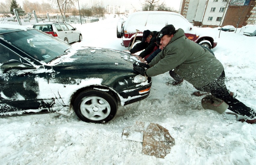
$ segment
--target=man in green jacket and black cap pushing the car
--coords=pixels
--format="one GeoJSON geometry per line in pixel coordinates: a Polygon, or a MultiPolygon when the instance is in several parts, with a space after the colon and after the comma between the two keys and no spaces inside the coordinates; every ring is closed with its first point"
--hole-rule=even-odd
{"type": "Polygon", "coordinates": [[[256,111],[230,95],[225,84],[224,67],[212,53],[189,40],[183,29],[175,30],[173,25],[166,25],[157,37],[161,38],[163,50],[149,64],[136,64],[133,70],[144,76],[173,70],[197,90],[211,93],[211,97],[201,101],[204,109],[222,113],[229,109],[244,116],[245,119],[239,121],[256,123],[256,111]]]}

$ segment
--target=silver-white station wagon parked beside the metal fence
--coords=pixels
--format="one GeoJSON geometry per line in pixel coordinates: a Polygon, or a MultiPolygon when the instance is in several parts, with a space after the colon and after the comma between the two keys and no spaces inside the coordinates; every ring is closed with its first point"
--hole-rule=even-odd
{"type": "Polygon", "coordinates": [[[53,37],[58,37],[68,44],[81,42],[83,39],[81,31],[64,22],[40,22],[34,24],[33,28],[51,34],[53,37]]]}

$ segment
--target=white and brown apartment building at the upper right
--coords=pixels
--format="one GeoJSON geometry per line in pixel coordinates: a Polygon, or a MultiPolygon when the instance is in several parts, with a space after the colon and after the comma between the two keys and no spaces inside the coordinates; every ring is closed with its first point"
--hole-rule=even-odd
{"type": "Polygon", "coordinates": [[[255,23],[256,1],[250,0],[183,0],[179,13],[194,26],[241,28],[255,23]]]}

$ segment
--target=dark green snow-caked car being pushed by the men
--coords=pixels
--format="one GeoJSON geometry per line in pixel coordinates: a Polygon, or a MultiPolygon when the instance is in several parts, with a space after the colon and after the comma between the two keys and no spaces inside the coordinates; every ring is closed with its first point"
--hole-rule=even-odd
{"type": "Polygon", "coordinates": [[[151,77],[133,71],[130,57],[113,49],[73,49],[34,28],[0,24],[0,116],[66,108],[85,122],[108,122],[118,104],[150,93],[151,77]]]}

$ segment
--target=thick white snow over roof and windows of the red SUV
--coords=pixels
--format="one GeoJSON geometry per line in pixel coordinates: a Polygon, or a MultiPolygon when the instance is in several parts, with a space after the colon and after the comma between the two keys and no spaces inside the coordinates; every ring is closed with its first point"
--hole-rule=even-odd
{"type": "Polygon", "coordinates": [[[160,31],[164,26],[172,24],[175,29],[190,30],[192,25],[178,13],[168,11],[138,11],[132,13],[125,22],[125,29],[129,33],[151,30],[160,31]]]}

